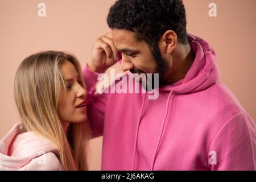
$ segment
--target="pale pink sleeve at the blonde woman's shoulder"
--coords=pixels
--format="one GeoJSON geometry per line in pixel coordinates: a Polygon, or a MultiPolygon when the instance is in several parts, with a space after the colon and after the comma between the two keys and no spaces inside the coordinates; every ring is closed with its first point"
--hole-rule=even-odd
{"type": "Polygon", "coordinates": [[[53,152],[32,159],[24,168],[26,171],[61,171],[59,159],[53,152]]]}

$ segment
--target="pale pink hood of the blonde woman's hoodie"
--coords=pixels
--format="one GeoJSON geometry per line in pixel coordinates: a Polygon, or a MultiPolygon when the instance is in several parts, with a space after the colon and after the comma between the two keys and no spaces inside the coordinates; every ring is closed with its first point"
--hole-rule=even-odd
{"type": "Polygon", "coordinates": [[[51,141],[32,131],[23,133],[22,130],[22,123],[17,123],[0,141],[0,170],[19,169],[48,152],[57,154],[51,141]]]}

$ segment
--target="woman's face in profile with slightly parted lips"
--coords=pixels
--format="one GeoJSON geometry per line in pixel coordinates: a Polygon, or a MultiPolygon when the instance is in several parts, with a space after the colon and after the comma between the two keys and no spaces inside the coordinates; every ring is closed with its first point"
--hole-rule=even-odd
{"type": "Polygon", "coordinates": [[[79,73],[77,73],[75,66],[67,60],[61,64],[60,69],[67,82],[67,90],[62,90],[60,93],[60,117],[68,123],[83,122],[87,118],[86,90],[83,88],[79,73]]]}

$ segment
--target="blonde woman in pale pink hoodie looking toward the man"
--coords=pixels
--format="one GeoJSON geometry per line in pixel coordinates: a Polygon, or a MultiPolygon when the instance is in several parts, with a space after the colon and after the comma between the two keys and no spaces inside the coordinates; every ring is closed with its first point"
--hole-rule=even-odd
{"type": "Polygon", "coordinates": [[[76,57],[55,51],[31,55],[14,82],[22,123],[0,142],[0,170],[87,170],[90,129],[76,57]]]}

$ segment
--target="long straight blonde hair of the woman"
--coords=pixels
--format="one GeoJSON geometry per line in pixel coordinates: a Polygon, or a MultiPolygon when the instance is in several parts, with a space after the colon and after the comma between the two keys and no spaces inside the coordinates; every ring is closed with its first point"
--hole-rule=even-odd
{"type": "Polygon", "coordinates": [[[60,92],[66,89],[60,66],[67,60],[82,78],[79,61],[73,55],[47,51],[28,56],[16,72],[14,97],[24,130],[51,140],[64,170],[88,170],[88,121],[70,123],[66,134],[58,113],[60,92]]]}

